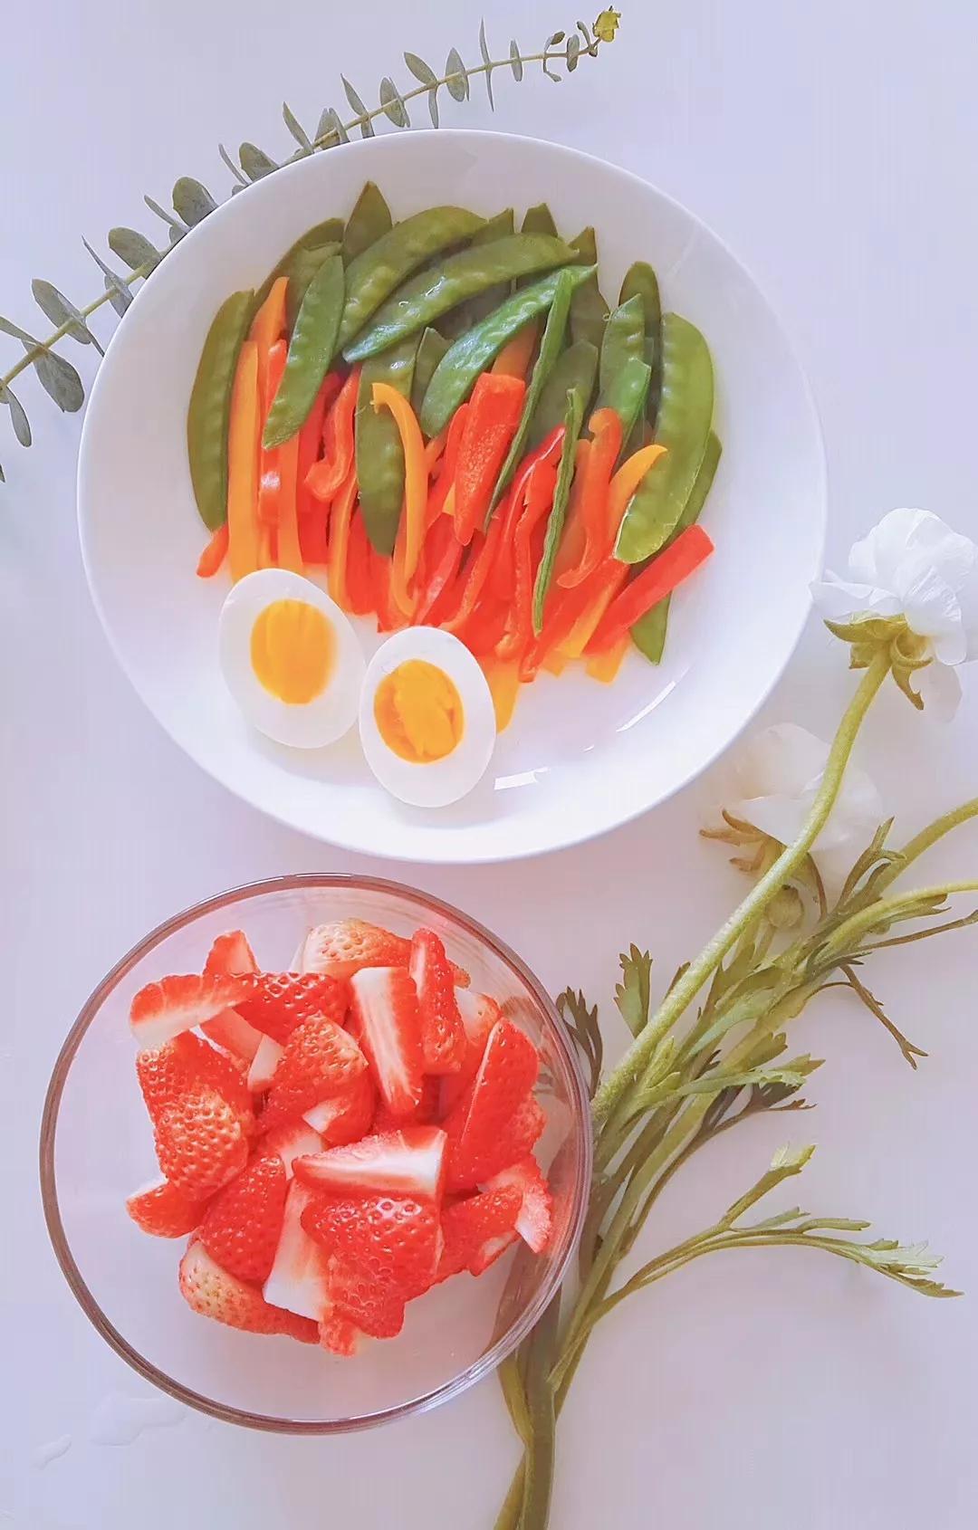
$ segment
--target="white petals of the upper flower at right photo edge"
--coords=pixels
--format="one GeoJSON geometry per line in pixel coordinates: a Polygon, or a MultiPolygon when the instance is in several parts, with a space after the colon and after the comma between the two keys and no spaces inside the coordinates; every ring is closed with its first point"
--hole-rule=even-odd
{"type": "Polygon", "coordinates": [[[849,578],[826,572],[811,586],[831,620],[903,617],[934,664],[917,681],[954,713],[961,685],[952,669],[978,658],[978,546],[929,509],[891,509],[849,552],[849,578]]]}

